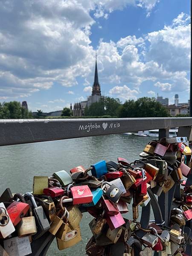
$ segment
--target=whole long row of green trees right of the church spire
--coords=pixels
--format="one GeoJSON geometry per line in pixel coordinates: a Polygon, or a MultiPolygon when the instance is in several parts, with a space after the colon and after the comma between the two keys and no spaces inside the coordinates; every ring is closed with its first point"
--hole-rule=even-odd
{"type": "Polygon", "coordinates": [[[118,117],[169,117],[166,107],[153,98],[143,97],[128,100],[121,104],[119,99],[105,97],[100,102],[85,108],[85,116],[118,116],[118,117]]]}

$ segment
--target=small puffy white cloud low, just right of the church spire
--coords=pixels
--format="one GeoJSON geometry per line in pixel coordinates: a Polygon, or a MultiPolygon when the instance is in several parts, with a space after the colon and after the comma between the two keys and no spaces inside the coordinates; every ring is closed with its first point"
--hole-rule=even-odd
{"type": "Polygon", "coordinates": [[[111,90],[109,90],[110,95],[118,96],[122,99],[137,99],[136,94],[138,94],[137,90],[131,90],[128,86],[115,86],[111,90]]]}

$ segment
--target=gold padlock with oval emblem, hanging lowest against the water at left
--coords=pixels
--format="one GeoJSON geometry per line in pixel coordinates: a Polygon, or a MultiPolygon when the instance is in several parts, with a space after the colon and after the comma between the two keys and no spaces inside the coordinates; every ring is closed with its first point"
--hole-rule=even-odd
{"type": "Polygon", "coordinates": [[[56,237],[59,250],[64,250],[66,248],[72,247],[73,245],[79,243],[81,240],[82,238],[79,226],[76,227],[76,229],[74,230],[71,230],[70,227],[68,227],[64,241],[56,237]]]}

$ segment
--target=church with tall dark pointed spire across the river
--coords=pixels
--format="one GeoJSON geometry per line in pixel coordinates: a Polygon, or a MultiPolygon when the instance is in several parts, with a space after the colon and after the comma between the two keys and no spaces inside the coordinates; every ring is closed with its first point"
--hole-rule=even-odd
{"type": "Polygon", "coordinates": [[[79,103],[75,103],[73,108],[73,116],[84,116],[84,109],[85,107],[90,107],[92,103],[99,102],[101,99],[101,88],[98,79],[98,72],[97,72],[97,59],[95,63],[95,78],[93,83],[92,95],[88,96],[87,101],[82,101],[79,103]]]}

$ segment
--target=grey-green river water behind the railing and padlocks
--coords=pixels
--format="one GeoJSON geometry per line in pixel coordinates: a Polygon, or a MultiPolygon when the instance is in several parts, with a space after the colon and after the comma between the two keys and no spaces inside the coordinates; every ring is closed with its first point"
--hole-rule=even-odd
{"type": "MultiPolygon", "coordinates": [[[[75,166],[90,164],[99,160],[113,160],[124,157],[130,162],[137,159],[149,137],[115,134],[70,140],[59,140],[23,145],[0,147],[0,194],[9,187],[12,193],[32,191],[33,176],[51,176],[54,172],[69,172],[75,166]]],[[[125,218],[132,218],[130,212],[125,218]]],[[[85,255],[85,246],[92,236],[89,222],[93,219],[87,212],[80,223],[82,241],[75,246],[59,251],[54,239],[48,256],[85,255]]]]}

